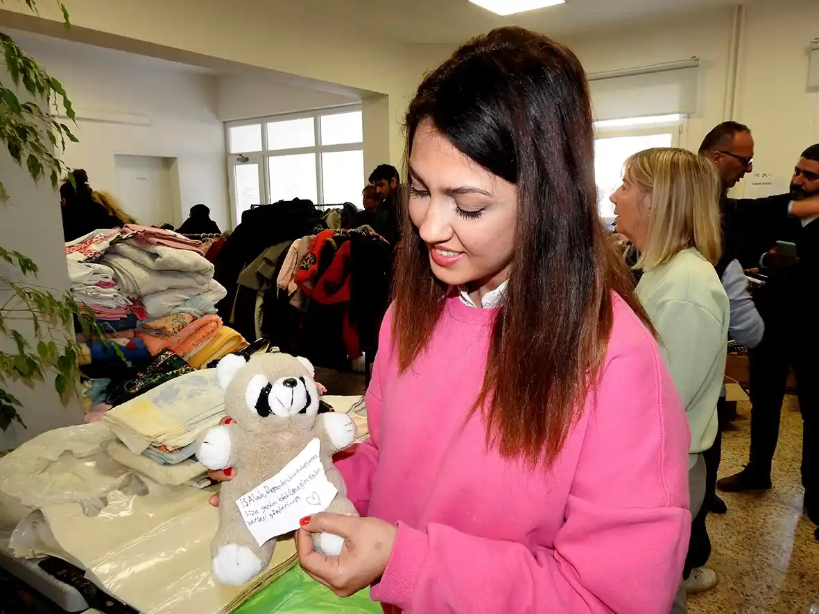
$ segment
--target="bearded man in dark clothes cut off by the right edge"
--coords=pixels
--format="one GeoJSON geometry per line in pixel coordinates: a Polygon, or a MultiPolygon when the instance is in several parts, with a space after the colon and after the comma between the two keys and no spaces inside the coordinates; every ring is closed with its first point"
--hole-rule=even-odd
{"type": "MultiPolygon", "coordinates": [[[[767,201],[771,207],[784,205],[794,210],[812,201],[813,196],[819,196],[819,143],[808,147],[799,158],[790,194],[757,202],[767,201]]],[[[718,488],[726,492],[771,488],[771,461],[792,366],[804,424],[804,508],[810,520],[819,524],[819,329],[812,325],[819,298],[817,217],[789,217],[771,222],[768,228],[758,229],[749,242],[757,253],[764,250],[759,264],[768,276],[755,297],[766,328],[762,343],[750,351],[753,404],[750,460],[742,472],[720,480],[718,488]]]]}

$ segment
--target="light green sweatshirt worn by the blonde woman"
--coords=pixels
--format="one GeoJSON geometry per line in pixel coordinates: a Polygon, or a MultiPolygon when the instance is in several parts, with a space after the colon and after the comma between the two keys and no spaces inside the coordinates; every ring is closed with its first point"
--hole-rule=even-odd
{"type": "Polygon", "coordinates": [[[731,307],[713,266],[694,248],[645,271],[637,296],[660,335],[660,351],[691,429],[688,467],[717,436],[731,307]]]}

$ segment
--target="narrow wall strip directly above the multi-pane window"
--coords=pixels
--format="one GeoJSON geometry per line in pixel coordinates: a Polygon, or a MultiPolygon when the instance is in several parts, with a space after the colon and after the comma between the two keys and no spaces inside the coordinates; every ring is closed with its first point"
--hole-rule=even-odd
{"type": "Polygon", "coordinates": [[[222,121],[247,120],[356,102],[360,97],[278,84],[261,76],[227,75],[218,79],[216,115],[222,121]]]}

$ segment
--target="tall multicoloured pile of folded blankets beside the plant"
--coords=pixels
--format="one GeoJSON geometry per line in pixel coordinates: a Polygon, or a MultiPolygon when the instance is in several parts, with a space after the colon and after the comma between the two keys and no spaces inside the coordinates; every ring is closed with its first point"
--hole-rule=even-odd
{"type": "MultiPolygon", "coordinates": [[[[106,336],[78,336],[84,375],[110,380],[102,398],[88,400],[99,414],[88,420],[191,370],[184,359],[215,340],[223,342],[210,354],[225,345],[214,315],[225,291],[214,281],[214,266],[202,255],[200,242],[126,224],[67,243],[66,258],[72,295],[93,310],[106,336]]],[[[233,349],[229,345],[224,354],[233,349]]]]}

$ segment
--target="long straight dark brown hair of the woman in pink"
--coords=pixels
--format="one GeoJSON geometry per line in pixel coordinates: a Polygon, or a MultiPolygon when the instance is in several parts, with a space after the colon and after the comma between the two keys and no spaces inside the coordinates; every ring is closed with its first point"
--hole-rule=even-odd
{"type": "MultiPolygon", "coordinates": [[[[613,323],[613,293],[650,331],[626,264],[600,223],[586,77],[567,48],[520,28],[473,39],[428,74],[406,117],[407,157],[422,120],[518,187],[517,249],[474,405],[487,443],[549,466],[593,389],[613,323]]],[[[432,336],[447,288],[403,216],[396,279],[398,363],[432,336]]]]}

